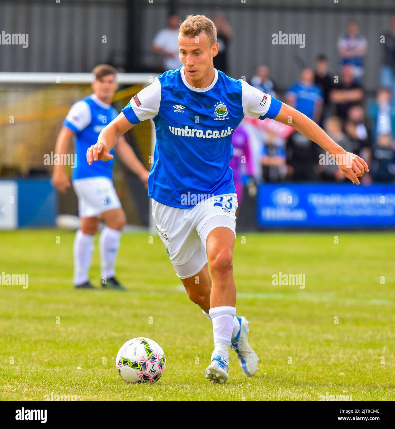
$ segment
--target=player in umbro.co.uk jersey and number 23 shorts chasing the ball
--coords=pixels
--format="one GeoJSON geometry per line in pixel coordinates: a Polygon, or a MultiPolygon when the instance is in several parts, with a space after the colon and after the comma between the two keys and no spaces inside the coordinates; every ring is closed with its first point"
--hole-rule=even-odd
{"type": "MultiPolygon", "coordinates": [[[[228,378],[229,347],[248,376],[256,373],[259,360],[248,344],[248,321],[236,317],[233,246],[238,202],[229,167],[233,131],[244,115],[275,118],[330,154],[346,151],[302,113],[214,69],[218,44],[210,19],[189,15],[181,24],[178,44],[184,66],[163,73],[133,97],[86,157],[93,165],[110,159],[119,136],[153,118],[156,147],[148,194],[154,224],[190,299],[212,320],[214,351],[205,376],[223,383],[228,378]]],[[[350,166],[339,167],[359,184],[367,164],[354,154],[349,159],[350,166]]]]}

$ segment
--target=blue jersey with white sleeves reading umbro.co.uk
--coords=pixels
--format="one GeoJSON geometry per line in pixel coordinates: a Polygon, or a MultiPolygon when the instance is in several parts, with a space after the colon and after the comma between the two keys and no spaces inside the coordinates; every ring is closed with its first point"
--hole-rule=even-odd
{"type": "Polygon", "coordinates": [[[148,195],[190,208],[205,196],[234,193],[232,134],[244,115],[275,118],[281,102],[214,69],[207,88],[195,88],[184,67],[169,70],[122,109],[132,124],[153,119],[156,145],[148,195]]]}

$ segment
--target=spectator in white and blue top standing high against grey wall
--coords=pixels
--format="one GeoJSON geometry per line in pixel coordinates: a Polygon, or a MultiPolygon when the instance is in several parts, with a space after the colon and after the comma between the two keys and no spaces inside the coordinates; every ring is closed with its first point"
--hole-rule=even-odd
{"type": "Polygon", "coordinates": [[[341,66],[350,65],[353,76],[358,81],[364,74],[364,56],[367,51],[367,41],[359,33],[359,26],[355,21],[349,21],[346,33],[337,41],[337,51],[341,66]]]}

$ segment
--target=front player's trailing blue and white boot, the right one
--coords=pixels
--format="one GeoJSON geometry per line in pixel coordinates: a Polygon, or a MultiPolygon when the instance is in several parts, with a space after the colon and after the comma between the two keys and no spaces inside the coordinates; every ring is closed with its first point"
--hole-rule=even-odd
{"type": "Polygon", "coordinates": [[[239,320],[240,330],[236,337],[232,338],[230,348],[236,351],[239,364],[245,375],[252,377],[258,370],[259,357],[248,344],[248,333],[250,332],[248,325],[250,322],[245,317],[236,317],[236,319],[239,320]]]}

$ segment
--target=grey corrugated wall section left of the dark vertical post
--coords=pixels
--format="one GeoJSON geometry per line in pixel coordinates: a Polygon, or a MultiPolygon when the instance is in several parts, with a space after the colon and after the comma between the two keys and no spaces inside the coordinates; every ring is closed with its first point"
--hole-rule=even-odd
{"type": "Polygon", "coordinates": [[[28,48],[0,45],[1,71],[89,72],[124,51],[125,0],[55,1],[0,3],[0,33],[29,33],[28,48]]]}

